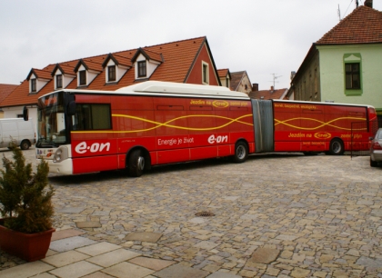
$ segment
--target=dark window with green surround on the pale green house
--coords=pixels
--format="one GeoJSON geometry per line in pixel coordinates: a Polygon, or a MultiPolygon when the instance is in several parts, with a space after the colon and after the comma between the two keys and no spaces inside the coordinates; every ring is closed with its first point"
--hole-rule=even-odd
{"type": "Polygon", "coordinates": [[[362,56],[359,53],[346,54],[344,61],[344,90],[345,94],[362,94],[362,56]]]}

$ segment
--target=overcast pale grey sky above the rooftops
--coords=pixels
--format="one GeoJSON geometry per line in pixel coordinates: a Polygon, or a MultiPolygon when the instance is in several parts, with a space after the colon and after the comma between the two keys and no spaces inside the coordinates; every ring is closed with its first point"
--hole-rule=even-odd
{"type": "MultiPolygon", "coordinates": [[[[359,5],[364,0],[359,0],[359,5]]],[[[0,83],[31,68],[205,36],[217,69],[287,88],[310,46],[356,0],[2,0],[0,83]]],[[[382,11],[382,0],[374,0],[382,11]]]]}

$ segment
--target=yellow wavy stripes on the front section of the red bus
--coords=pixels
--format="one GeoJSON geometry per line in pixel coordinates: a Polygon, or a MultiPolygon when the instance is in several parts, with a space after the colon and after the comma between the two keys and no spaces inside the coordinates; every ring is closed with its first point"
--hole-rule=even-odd
{"type": "Polygon", "coordinates": [[[150,123],[150,124],[156,124],[156,125],[153,126],[153,127],[150,127],[150,128],[136,129],[136,130],[122,130],[122,131],[109,131],[109,130],[107,130],[107,131],[106,130],[105,131],[103,131],[103,130],[93,131],[93,130],[84,130],[84,131],[72,131],[72,133],[75,133],[75,134],[95,134],[95,133],[96,134],[122,134],[122,133],[130,134],[130,133],[140,133],[140,132],[150,131],[150,130],[159,128],[161,126],[172,127],[172,128],[176,128],[176,129],[183,129],[183,130],[192,130],[192,131],[207,131],[207,130],[220,129],[220,128],[226,127],[229,124],[233,124],[233,123],[240,123],[240,124],[246,124],[246,125],[253,126],[253,124],[249,124],[249,123],[240,121],[243,118],[252,117],[252,114],[245,114],[245,115],[237,117],[236,119],[232,119],[232,118],[228,118],[228,117],[224,117],[224,116],[219,116],[219,115],[211,115],[211,114],[191,114],[191,115],[185,115],[185,116],[181,116],[181,117],[177,117],[177,118],[171,119],[170,121],[167,121],[166,123],[158,123],[156,121],[151,121],[151,120],[148,120],[148,119],[145,119],[145,118],[136,117],[136,116],[128,115],[128,114],[113,114],[113,116],[114,117],[129,118],[129,119],[138,120],[138,121],[142,121],[142,122],[146,122],[146,123],[150,123]],[[205,128],[177,126],[177,125],[174,125],[174,124],[170,124],[172,122],[175,122],[176,120],[185,119],[185,118],[191,118],[191,117],[220,118],[220,119],[225,119],[228,122],[226,124],[221,124],[219,126],[211,126],[211,127],[205,127],[205,128]]]}

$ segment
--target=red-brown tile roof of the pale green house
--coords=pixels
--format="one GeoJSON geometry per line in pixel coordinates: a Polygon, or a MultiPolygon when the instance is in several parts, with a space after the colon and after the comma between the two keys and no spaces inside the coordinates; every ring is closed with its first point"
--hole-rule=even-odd
{"type": "Polygon", "coordinates": [[[361,5],[317,41],[317,45],[382,43],[382,12],[361,5]]]}

